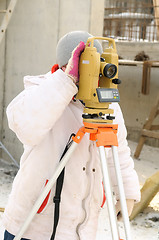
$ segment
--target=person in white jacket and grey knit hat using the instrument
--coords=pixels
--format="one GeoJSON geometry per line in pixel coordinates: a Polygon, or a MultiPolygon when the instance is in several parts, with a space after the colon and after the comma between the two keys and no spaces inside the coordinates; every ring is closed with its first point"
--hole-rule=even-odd
{"type": "MultiPolygon", "coordinates": [[[[87,32],[75,31],[62,37],[56,49],[58,67],[56,65],[45,75],[24,77],[24,91],[7,108],[9,127],[23,143],[24,153],[3,215],[6,229],[4,240],[13,239],[18,233],[36,199],[53,176],[70,135],[77,133],[83,125],[84,106],[73,97],[78,92],[79,57],[90,36],[87,32]]],[[[98,41],[95,47],[102,52],[98,41]]],[[[130,215],[134,202],[140,200],[140,187],[130,157],[121,109],[118,103],[111,104],[110,108],[114,109],[114,123],[118,124],[118,154],[130,215]]],[[[107,156],[118,212],[119,194],[109,149],[107,156]]],[[[23,239],[51,238],[55,188],[53,186],[42,203],[23,239]]],[[[103,197],[98,149],[85,134],[65,167],[55,239],[96,239],[103,197]]]]}

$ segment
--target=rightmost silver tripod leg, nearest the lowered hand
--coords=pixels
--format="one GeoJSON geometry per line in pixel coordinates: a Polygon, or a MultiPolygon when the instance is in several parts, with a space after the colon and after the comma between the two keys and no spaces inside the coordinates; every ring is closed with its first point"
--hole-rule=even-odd
{"type": "Polygon", "coordinates": [[[129,216],[128,216],[128,211],[127,211],[123,180],[122,180],[122,175],[121,175],[121,170],[120,170],[118,150],[117,150],[116,146],[112,146],[112,153],[113,153],[116,177],[117,177],[118,188],[119,188],[119,197],[120,197],[122,217],[123,217],[124,228],[125,228],[124,229],[125,235],[126,235],[127,240],[131,240],[130,222],[129,222],[129,216]]]}

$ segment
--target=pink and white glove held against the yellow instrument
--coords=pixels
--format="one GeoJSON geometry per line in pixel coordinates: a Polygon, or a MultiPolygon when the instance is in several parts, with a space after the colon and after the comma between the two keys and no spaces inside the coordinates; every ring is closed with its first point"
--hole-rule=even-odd
{"type": "Polygon", "coordinates": [[[68,61],[65,73],[73,79],[74,83],[78,83],[79,81],[79,72],[78,72],[78,67],[79,67],[79,59],[81,53],[84,51],[85,48],[85,43],[80,42],[78,46],[73,50],[72,56],[70,60],[68,61]]]}

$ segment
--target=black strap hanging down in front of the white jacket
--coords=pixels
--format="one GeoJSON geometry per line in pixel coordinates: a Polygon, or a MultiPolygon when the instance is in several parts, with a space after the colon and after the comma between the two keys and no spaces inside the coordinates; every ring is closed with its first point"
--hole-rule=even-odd
{"type": "MultiPolygon", "coordinates": [[[[64,157],[64,155],[66,154],[67,150],[69,149],[72,141],[71,138],[72,136],[75,136],[75,134],[71,134],[69,141],[64,149],[64,152],[60,158],[61,159],[64,157]]],[[[65,174],[65,168],[62,170],[62,172],[60,173],[59,177],[57,178],[56,181],[56,191],[55,191],[55,196],[53,198],[53,202],[55,203],[55,208],[54,208],[54,227],[53,227],[53,233],[52,236],[50,238],[50,240],[54,240],[55,239],[55,234],[56,234],[56,228],[58,225],[58,221],[59,221],[59,213],[60,213],[60,201],[61,201],[61,192],[62,192],[62,187],[63,187],[63,181],[64,181],[64,174],[65,174]]]]}

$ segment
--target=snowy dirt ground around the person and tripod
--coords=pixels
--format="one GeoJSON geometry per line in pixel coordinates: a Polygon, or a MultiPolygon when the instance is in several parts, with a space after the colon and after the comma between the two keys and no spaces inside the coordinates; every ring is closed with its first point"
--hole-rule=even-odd
{"type": "MultiPolygon", "coordinates": [[[[132,156],[137,143],[129,141],[132,156]]],[[[145,180],[159,170],[159,148],[144,145],[139,159],[134,159],[141,187],[145,180]]],[[[17,168],[0,160],[0,208],[5,208],[17,168]]],[[[3,212],[0,212],[0,239],[3,239],[4,228],[1,223],[3,212]]],[[[101,209],[96,240],[110,240],[110,227],[107,208],[101,209]]],[[[133,240],[159,240],[159,193],[148,208],[130,223],[133,240]]],[[[121,238],[124,237],[123,225],[119,223],[121,238]]]]}

